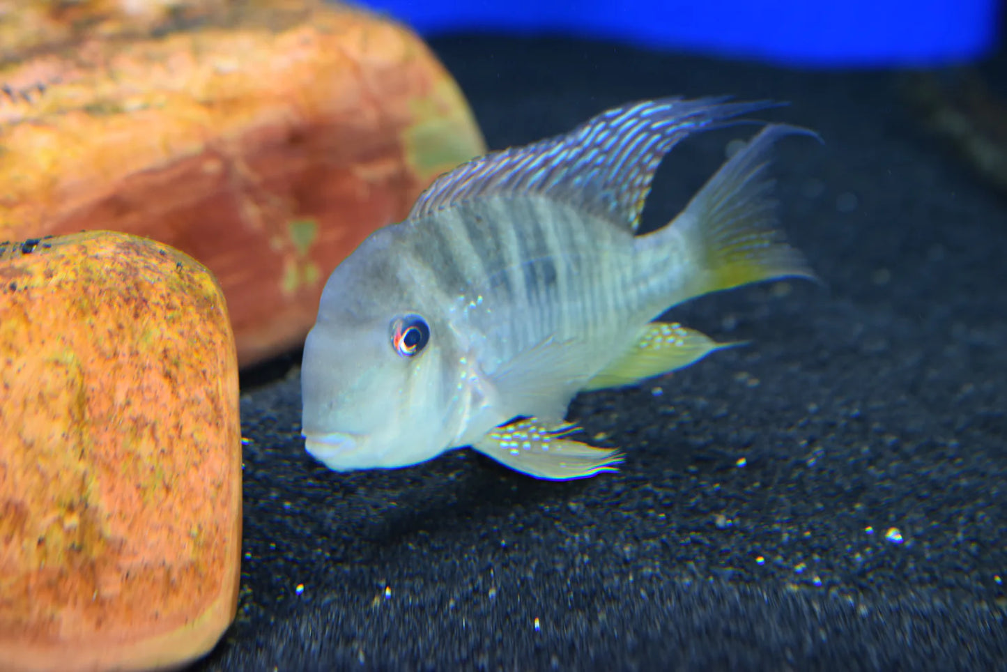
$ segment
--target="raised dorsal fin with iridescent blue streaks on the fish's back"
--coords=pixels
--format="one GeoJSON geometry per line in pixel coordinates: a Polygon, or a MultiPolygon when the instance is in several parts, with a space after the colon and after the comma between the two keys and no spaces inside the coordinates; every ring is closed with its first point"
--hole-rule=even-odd
{"type": "Polygon", "coordinates": [[[438,177],[409,217],[422,218],[479,197],[540,194],[635,231],[654,172],[679,141],[727,125],[732,117],[777,105],[725,100],[666,98],[624,105],[569,133],[490,152],[438,177]]]}

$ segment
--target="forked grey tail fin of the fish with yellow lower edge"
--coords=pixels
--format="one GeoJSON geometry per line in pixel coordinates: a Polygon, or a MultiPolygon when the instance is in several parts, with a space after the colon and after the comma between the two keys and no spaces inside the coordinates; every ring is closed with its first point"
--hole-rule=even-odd
{"type": "Polygon", "coordinates": [[[680,285],[686,293],[680,301],[773,278],[818,280],[804,255],[786,244],[771,196],[775,180],[764,174],[772,143],[790,134],[819,137],[797,126],[766,126],[720,167],[668,227],[654,234],[685,246],[690,271],[686,285],[680,285]]]}

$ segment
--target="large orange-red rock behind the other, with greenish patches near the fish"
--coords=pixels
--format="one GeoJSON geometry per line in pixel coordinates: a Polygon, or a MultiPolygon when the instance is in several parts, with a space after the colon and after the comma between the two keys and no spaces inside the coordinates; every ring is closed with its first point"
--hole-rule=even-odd
{"type": "Polygon", "coordinates": [[[0,240],[111,229],[186,252],[224,288],[245,366],[299,346],[332,269],[485,148],[402,26],[314,0],[204,12],[0,65],[0,240]]]}

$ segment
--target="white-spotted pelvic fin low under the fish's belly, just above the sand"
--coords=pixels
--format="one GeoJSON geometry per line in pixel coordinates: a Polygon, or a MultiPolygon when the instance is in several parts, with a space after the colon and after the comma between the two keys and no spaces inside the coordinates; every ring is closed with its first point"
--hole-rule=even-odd
{"type": "Polygon", "coordinates": [[[567,436],[579,427],[560,424],[550,428],[535,418],[497,427],[472,448],[505,466],[536,479],[569,481],[615,472],[623,460],[615,448],[596,448],[567,436]]]}

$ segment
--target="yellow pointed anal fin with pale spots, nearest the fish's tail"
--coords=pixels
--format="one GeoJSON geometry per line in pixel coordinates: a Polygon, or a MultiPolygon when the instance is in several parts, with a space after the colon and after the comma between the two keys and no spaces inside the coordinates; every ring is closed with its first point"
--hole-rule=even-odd
{"type": "Polygon", "coordinates": [[[653,322],[627,353],[595,375],[584,389],[632,385],[688,367],[714,351],[740,345],[743,342],[717,343],[702,331],[677,322],[653,322]]]}

